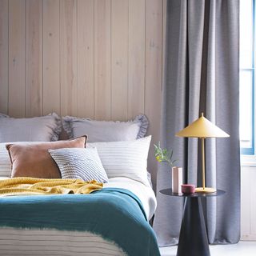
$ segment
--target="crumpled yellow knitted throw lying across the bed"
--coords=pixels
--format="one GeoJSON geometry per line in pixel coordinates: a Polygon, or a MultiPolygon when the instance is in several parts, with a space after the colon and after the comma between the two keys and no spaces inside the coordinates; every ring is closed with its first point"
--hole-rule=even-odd
{"type": "Polygon", "coordinates": [[[103,184],[81,179],[18,177],[0,181],[0,196],[24,194],[90,194],[103,184]]]}

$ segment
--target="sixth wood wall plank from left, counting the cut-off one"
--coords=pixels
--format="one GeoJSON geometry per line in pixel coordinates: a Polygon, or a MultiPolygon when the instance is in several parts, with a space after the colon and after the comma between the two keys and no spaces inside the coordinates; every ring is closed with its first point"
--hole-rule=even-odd
{"type": "Polygon", "coordinates": [[[94,0],[78,0],[78,117],[94,118],[94,0]]]}

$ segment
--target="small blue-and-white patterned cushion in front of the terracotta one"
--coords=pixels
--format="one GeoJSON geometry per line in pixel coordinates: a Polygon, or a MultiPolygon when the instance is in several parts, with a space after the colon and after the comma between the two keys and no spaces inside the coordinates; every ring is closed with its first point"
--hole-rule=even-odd
{"type": "Polygon", "coordinates": [[[108,182],[96,148],[63,148],[48,150],[57,163],[62,178],[80,178],[86,182],[108,182]]]}

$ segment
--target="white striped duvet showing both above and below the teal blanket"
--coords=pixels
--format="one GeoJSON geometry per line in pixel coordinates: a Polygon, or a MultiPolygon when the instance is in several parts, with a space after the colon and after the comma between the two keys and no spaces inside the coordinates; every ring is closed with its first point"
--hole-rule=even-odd
{"type": "MultiPolygon", "coordinates": [[[[130,178],[110,178],[104,187],[130,190],[141,200],[146,217],[156,209],[156,198],[147,186],[130,178]]],[[[50,229],[0,228],[0,255],[125,255],[114,242],[96,234],[50,229]]]]}

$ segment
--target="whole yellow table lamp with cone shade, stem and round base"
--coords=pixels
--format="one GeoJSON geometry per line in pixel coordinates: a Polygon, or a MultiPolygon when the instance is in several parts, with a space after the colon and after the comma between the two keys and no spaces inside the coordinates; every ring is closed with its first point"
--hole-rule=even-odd
{"type": "Polygon", "coordinates": [[[180,130],[178,137],[201,138],[202,141],[202,187],[195,189],[196,193],[214,193],[216,190],[212,187],[206,187],[206,162],[205,162],[205,138],[224,138],[230,137],[225,131],[218,128],[201,114],[201,117],[180,130]]]}

